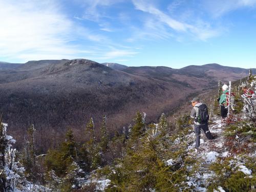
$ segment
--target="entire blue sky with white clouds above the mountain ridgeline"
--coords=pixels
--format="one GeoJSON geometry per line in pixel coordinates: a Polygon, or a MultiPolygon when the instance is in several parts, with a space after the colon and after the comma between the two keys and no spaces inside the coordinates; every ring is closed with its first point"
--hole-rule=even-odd
{"type": "Polygon", "coordinates": [[[0,0],[0,61],[256,68],[256,0],[0,0]]]}

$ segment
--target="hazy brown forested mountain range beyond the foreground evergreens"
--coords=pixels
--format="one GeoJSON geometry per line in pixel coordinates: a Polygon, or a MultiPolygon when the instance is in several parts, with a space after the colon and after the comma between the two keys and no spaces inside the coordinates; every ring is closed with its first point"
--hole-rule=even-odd
{"type": "Polygon", "coordinates": [[[49,134],[61,134],[67,127],[77,130],[79,137],[90,117],[97,136],[103,114],[112,134],[131,123],[127,119],[133,119],[136,111],[155,122],[187,97],[216,87],[219,79],[227,82],[248,74],[247,69],[217,64],[182,69],[126,66],[122,70],[113,69],[116,64],[39,60],[0,70],[0,113],[13,135],[18,135],[17,143],[23,142],[24,129],[31,123],[40,132],[37,139],[46,141],[49,134]]]}

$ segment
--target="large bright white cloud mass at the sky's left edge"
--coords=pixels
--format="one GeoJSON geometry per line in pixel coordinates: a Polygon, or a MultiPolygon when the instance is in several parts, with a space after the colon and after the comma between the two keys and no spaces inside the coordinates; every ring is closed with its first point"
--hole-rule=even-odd
{"type": "Polygon", "coordinates": [[[0,55],[20,61],[45,58],[75,58],[91,51],[76,40],[104,42],[102,35],[76,25],[55,1],[0,0],[0,55]]]}

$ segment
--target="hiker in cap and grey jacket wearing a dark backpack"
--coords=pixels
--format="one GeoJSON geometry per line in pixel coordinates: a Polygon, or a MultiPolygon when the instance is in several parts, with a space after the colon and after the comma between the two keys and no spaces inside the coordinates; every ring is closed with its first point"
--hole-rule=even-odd
{"type": "MultiPolygon", "coordinates": [[[[193,106],[193,109],[190,112],[190,117],[194,119],[194,129],[196,133],[196,148],[200,146],[200,133],[201,129],[203,130],[204,134],[206,135],[207,139],[211,140],[213,139],[209,129],[208,129],[208,111],[207,111],[207,106],[203,103],[200,102],[200,99],[198,97],[194,98],[191,100],[191,104],[193,106]],[[207,120],[206,121],[201,121],[200,115],[199,115],[199,106],[202,105],[201,107],[206,108],[207,112],[207,120]]],[[[201,108],[200,108],[201,109],[201,108]]]]}

